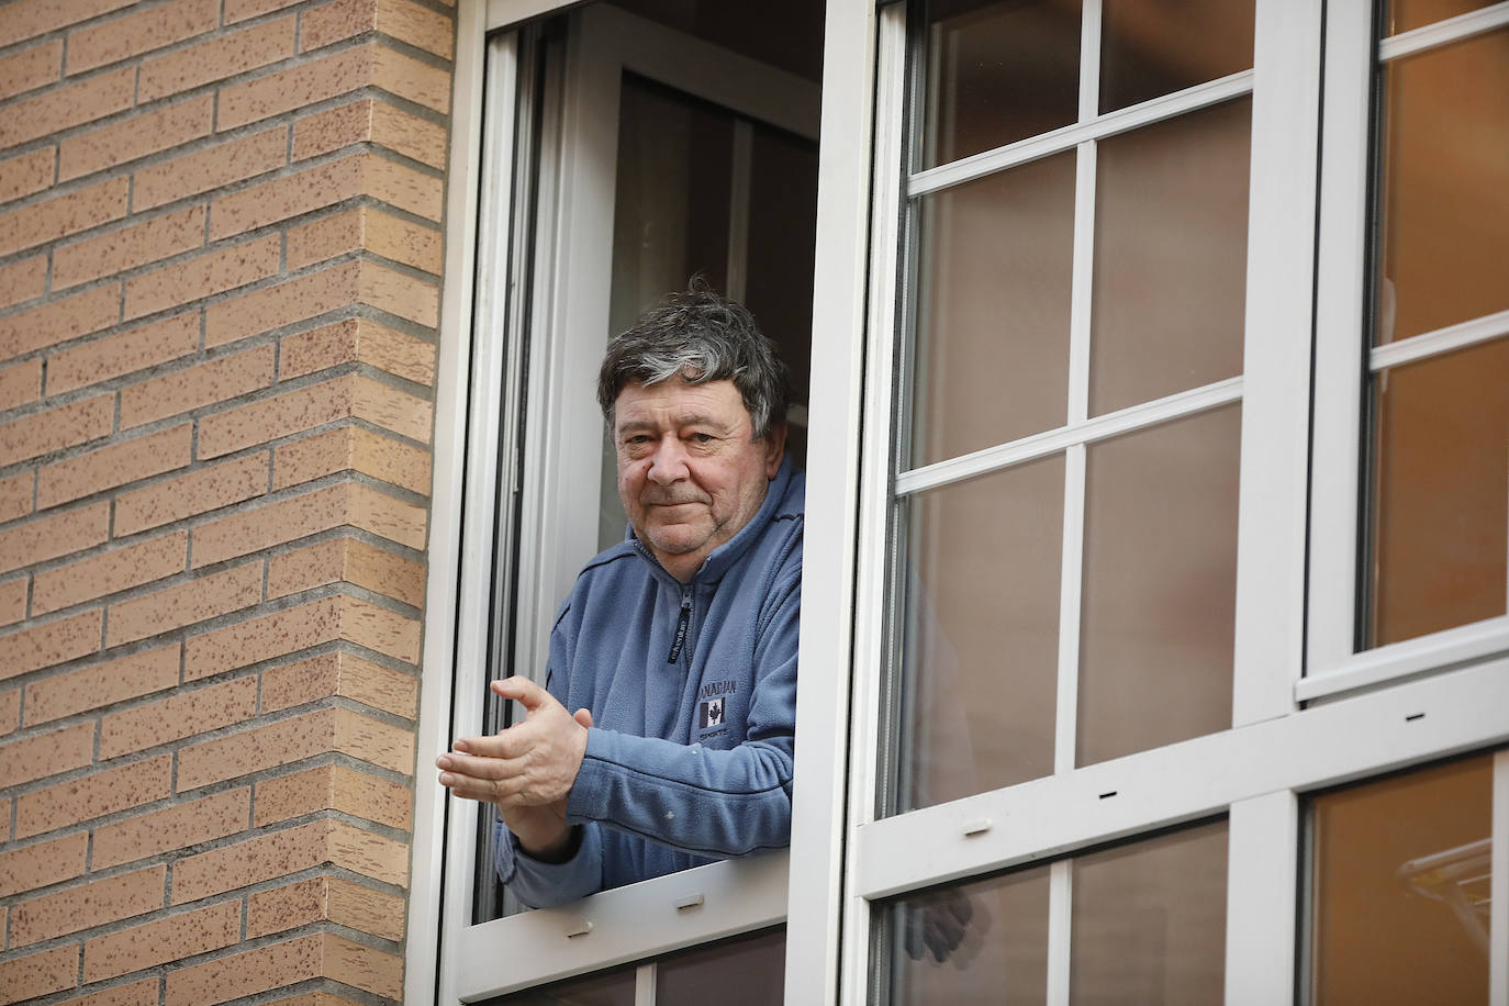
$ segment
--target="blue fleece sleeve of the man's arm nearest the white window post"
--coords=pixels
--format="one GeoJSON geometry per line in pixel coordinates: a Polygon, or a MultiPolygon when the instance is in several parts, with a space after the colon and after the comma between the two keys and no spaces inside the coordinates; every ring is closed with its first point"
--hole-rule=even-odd
{"type": "Polygon", "coordinates": [[[567,820],[601,822],[696,855],[791,843],[801,572],[770,602],[754,644],[748,733],[732,750],[593,728],[567,820]]]}

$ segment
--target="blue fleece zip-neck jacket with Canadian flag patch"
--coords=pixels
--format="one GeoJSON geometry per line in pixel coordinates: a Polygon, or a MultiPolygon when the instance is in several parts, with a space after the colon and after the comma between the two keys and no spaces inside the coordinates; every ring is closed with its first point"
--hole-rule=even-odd
{"type": "Polygon", "coordinates": [[[598,555],[551,633],[546,688],[590,709],[566,863],[499,822],[498,876],[527,905],[791,842],[806,478],[782,463],[754,517],[690,584],[628,537],[598,555]]]}

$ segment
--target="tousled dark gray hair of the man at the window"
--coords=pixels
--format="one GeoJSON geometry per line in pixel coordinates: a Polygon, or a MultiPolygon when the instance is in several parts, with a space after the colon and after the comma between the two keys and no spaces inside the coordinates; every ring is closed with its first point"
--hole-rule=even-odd
{"type": "Polygon", "coordinates": [[[786,421],[791,382],[776,344],[754,315],[715,294],[694,276],[684,294],[665,294],[632,329],[608,342],[598,371],[598,406],[613,425],[613,406],[625,385],[658,385],[681,377],[688,385],[732,380],[754,427],[754,439],[786,421]]]}

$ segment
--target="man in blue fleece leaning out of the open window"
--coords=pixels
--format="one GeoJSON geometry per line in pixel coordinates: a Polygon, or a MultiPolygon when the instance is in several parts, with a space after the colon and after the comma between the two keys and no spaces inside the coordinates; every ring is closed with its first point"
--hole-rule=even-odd
{"type": "Polygon", "coordinates": [[[629,532],[561,606],[546,688],[493,682],[525,721],[436,762],[498,807],[498,876],[534,906],[791,836],[804,483],[785,368],[694,282],[613,339],[598,403],[629,532]]]}

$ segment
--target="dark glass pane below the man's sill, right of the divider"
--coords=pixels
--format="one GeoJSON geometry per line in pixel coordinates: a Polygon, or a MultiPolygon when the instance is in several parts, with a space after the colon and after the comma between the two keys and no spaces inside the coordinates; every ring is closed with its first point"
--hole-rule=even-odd
{"type": "Polygon", "coordinates": [[[779,1006],[786,931],[702,947],[656,964],[655,1006],[779,1006]]]}

